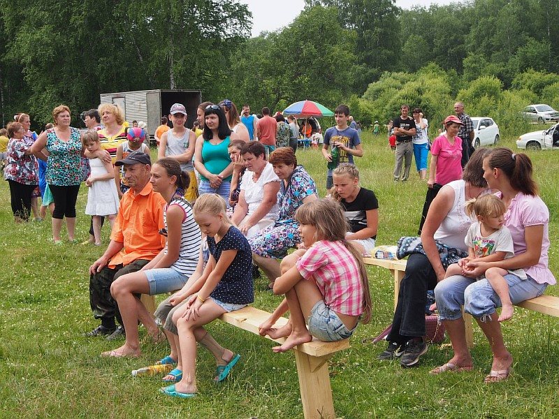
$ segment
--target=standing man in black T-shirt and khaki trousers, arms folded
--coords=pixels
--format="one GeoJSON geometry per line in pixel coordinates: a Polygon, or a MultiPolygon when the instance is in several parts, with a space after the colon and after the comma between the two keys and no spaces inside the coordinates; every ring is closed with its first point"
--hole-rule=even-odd
{"type": "Polygon", "coordinates": [[[400,116],[393,119],[394,134],[396,135],[396,152],[394,166],[394,180],[407,180],[409,177],[409,168],[412,166],[412,155],[414,145],[412,139],[416,133],[415,122],[412,117],[407,114],[409,112],[408,105],[400,107],[400,116]],[[404,172],[402,173],[402,161],[404,163],[404,172]]]}

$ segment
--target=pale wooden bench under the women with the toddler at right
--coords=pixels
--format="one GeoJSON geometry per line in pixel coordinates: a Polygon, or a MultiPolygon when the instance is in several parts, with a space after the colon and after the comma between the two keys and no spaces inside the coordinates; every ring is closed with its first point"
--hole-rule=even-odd
{"type": "MultiPolygon", "coordinates": [[[[406,270],[406,260],[387,260],[387,259],[375,259],[375,258],[363,258],[365,265],[373,265],[384,267],[390,272],[392,272],[394,277],[394,309],[396,304],[398,304],[398,291],[400,291],[400,283],[404,278],[406,270]]],[[[549,316],[559,317],[559,297],[553,295],[541,295],[540,297],[532,298],[532,300],[525,300],[521,303],[516,304],[518,307],[523,307],[524,309],[537,311],[538,313],[548,314],[549,316]]],[[[472,348],[474,346],[474,331],[472,328],[472,321],[468,318],[472,318],[470,314],[464,313],[464,323],[466,327],[466,341],[467,346],[472,348]]]]}

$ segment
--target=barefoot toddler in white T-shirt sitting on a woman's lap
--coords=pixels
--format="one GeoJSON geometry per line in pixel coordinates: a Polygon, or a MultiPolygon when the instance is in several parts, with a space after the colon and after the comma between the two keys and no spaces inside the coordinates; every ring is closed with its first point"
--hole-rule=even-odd
{"type": "MultiPolygon", "coordinates": [[[[460,259],[458,263],[450,265],[444,278],[461,275],[472,270],[468,266],[470,260],[480,262],[495,262],[514,256],[514,247],[510,230],[503,226],[504,213],[507,212],[502,200],[495,195],[483,195],[466,203],[465,212],[469,216],[477,216],[477,223],[473,223],[465,237],[468,247],[468,257],[460,259]]],[[[490,267],[485,272],[485,278],[501,300],[502,311],[498,321],[509,320],[513,308],[509,296],[509,286],[503,278],[506,274],[514,274],[526,279],[524,270],[505,270],[500,267],[490,267]]],[[[483,279],[483,277],[478,278],[483,279]]]]}

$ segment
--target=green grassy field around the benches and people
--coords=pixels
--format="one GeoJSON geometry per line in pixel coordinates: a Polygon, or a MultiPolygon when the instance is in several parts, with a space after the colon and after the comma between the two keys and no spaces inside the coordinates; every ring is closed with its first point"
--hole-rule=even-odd
{"type": "MultiPolygon", "coordinates": [[[[393,154],[384,135],[363,135],[365,156],[357,159],[363,186],[379,199],[379,244],[395,244],[414,235],[426,184],[415,175],[394,183],[393,154]]],[[[513,138],[502,145],[514,146],[513,138]]],[[[300,163],[313,175],[324,196],[326,164],[319,152],[302,150],[300,163]]],[[[530,153],[542,198],[549,206],[551,269],[559,277],[559,154],[530,153]]],[[[78,237],[87,237],[83,215],[86,188],[78,201],[78,237]]],[[[181,401],[159,395],[159,377],[132,378],[131,370],[167,354],[166,344],[143,345],[134,360],[105,359],[101,351],[115,343],[87,339],[94,328],[89,309],[87,268],[103,248],[49,242],[50,221],[15,225],[7,182],[0,182],[0,418],[301,418],[298,378],[292,353],[276,355],[272,343],[225,325],[210,325],[216,339],[242,355],[231,377],[212,383],[210,355],[198,355],[196,399],[181,401]]],[[[104,244],[108,231],[104,231],[104,244]]],[[[370,269],[373,316],[351,338],[351,348],[331,360],[334,405],[340,418],[557,418],[559,415],[559,321],[516,309],[504,325],[514,355],[514,374],[484,385],[491,353],[474,327],[474,371],[431,376],[428,371],[451,357],[448,345],[432,346],[421,365],[402,369],[398,362],[379,362],[384,342],[362,344],[391,322],[393,282],[389,272],[370,269]]],[[[254,305],[271,310],[277,297],[256,282],[254,305]]],[[[547,293],[559,295],[557,288],[547,293]]],[[[161,300],[161,297],[159,297],[161,300]]],[[[141,333],[144,335],[145,330],[141,333]]]]}

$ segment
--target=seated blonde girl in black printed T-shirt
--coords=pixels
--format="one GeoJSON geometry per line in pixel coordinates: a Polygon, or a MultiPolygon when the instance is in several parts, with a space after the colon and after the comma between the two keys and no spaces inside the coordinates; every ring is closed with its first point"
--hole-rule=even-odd
{"type": "Polygon", "coordinates": [[[379,201],[375,192],[359,186],[359,171],[352,164],[340,164],[332,175],[332,196],[340,201],[349,223],[345,238],[351,240],[363,256],[370,256],[379,225],[379,201]]]}

